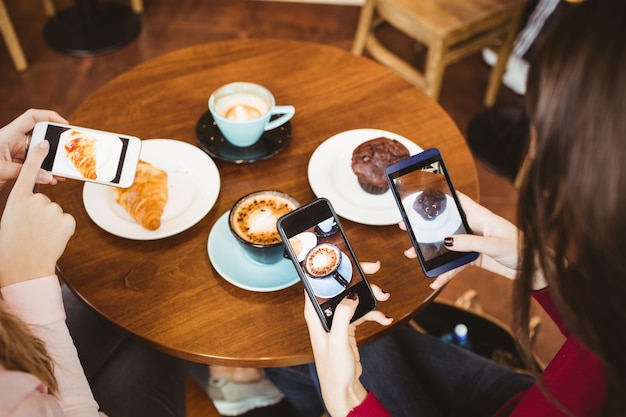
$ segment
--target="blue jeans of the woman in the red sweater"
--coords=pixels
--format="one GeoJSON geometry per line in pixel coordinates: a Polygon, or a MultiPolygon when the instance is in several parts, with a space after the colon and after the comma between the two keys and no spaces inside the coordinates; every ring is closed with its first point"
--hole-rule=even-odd
{"type": "MultiPolygon", "coordinates": [[[[359,350],[361,382],[394,417],[491,416],[533,384],[527,375],[408,326],[359,350]]],[[[302,417],[324,412],[313,364],[266,373],[302,417]]]]}

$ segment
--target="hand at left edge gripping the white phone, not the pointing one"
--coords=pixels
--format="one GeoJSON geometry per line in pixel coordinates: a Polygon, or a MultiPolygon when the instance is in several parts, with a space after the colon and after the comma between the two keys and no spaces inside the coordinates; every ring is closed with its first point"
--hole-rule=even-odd
{"type": "MultiPolygon", "coordinates": [[[[0,189],[17,178],[26,159],[26,138],[35,123],[50,121],[67,124],[67,120],[50,110],[30,109],[0,129],[0,189]]],[[[43,169],[39,170],[37,184],[56,184],[55,178],[43,169]]]]}

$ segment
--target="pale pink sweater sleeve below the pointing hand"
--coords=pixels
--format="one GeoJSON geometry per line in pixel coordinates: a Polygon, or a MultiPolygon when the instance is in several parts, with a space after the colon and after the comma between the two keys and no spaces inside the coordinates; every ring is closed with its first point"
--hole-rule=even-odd
{"type": "Polygon", "coordinates": [[[59,384],[65,416],[98,417],[98,404],[85,377],[67,325],[59,280],[42,277],[1,289],[10,313],[20,318],[46,345],[59,384]]]}

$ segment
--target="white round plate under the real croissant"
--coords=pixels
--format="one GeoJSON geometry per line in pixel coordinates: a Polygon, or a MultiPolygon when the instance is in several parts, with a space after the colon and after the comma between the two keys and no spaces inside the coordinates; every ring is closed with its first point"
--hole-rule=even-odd
{"type": "Polygon", "coordinates": [[[115,201],[113,187],[86,182],[87,214],[107,232],[127,239],[153,240],[187,230],[207,215],[220,192],[215,162],[199,148],[171,139],[142,141],[140,159],[167,171],[168,200],[157,230],[143,228],[115,201]]]}

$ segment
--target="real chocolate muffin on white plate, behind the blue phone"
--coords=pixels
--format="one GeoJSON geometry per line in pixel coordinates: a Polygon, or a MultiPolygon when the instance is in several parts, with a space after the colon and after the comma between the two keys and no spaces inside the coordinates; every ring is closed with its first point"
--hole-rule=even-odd
{"type": "Polygon", "coordinates": [[[380,137],[363,142],[352,152],[352,171],[359,185],[370,194],[382,194],[389,189],[387,165],[410,156],[409,150],[395,139],[380,137]]]}

